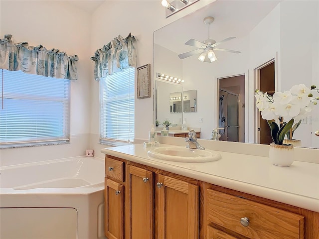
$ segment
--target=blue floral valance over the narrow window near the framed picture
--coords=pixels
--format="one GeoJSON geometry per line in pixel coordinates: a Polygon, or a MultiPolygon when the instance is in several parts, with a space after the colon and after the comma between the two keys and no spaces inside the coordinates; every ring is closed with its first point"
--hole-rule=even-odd
{"type": "Polygon", "coordinates": [[[131,33],[123,38],[121,35],[111,40],[107,45],[97,49],[91,60],[94,61],[94,78],[96,81],[122,72],[124,68],[136,67],[137,41],[131,33]]]}

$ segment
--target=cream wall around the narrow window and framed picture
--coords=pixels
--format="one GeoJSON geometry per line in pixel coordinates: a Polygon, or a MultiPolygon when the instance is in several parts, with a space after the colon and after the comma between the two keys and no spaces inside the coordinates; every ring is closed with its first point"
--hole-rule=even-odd
{"type": "MultiPolygon", "coordinates": [[[[160,27],[212,2],[201,0],[180,12],[165,18],[165,9],[158,0],[108,0],[92,15],[91,52],[101,48],[119,34],[126,37],[130,32],[137,41],[137,67],[151,64],[151,98],[135,99],[135,143],[148,139],[150,124],[153,124],[153,33],[160,27]]],[[[93,62],[92,62],[93,64],[93,62]]],[[[99,95],[98,83],[92,83],[91,96],[91,148],[100,157],[99,138],[99,95]]]]}

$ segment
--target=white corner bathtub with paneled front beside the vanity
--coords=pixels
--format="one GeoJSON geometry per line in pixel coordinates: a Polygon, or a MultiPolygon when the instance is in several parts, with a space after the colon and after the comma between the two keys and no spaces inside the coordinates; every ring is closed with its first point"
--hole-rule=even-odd
{"type": "Polygon", "coordinates": [[[1,239],[104,239],[104,160],[0,167],[1,239]]]}

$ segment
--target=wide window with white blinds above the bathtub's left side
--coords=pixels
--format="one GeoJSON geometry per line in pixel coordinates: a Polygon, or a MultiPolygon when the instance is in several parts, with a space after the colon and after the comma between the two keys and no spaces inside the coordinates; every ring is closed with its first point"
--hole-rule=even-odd
{"type": "Polygon", "coordinates": [[[0,146],[69,140],[70,80],[0,70],[0,146]]]}

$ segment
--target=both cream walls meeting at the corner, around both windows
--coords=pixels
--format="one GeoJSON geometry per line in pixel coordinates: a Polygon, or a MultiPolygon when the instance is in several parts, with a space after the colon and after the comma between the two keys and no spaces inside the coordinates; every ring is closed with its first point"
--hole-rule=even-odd
{"type": "MultiPolygon", "coordinates": [[[[12,34],[17,42],[42,44],[79,56],[79,79],[71,82],[70,143],[0,149],[0,165],[74,157],[84,155],[86,149],[94,149],[95,155],[103,158],[100,150],[105,146],[97,143],[99,84],[94,81],[90,57],[112,38],[131,32],[138,39],[137,66],[150,63],[153,76],[153,32],[212,1],[201,0],[166,19],[158,0],[106,0],[94,13],[66,0],[0,0],[0,38],[12,34]]],[[[153,77],[151,84],[153,88],[153,77]]],[[[153,95],[135,103],[135,137],[139,142],[148,139],[153,123],[153,95]]]]}

